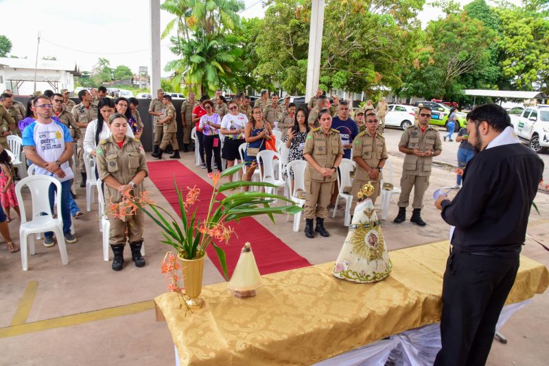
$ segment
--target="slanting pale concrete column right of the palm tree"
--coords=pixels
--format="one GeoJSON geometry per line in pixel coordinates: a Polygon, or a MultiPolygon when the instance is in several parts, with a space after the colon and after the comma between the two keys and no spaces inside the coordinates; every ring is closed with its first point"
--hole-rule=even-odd
{"type": "Polygon", "coordinates": [[[307,86],[305,103],[309,103],[318,89],[320,79],[320,52],[324,28],[324,0],[312,0],[311,27],[309,31],[309,57],[307,58],[307,86]]]}

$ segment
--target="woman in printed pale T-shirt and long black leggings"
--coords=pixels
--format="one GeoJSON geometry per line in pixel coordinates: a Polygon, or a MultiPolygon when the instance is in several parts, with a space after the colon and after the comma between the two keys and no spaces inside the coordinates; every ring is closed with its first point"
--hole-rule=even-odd
{"type": "Polygon", "coordinates": [[[206,114],[200,117],[198,130],[202,132],[202,144],[206,153],[206,167],[208,169],[208,178],[213,178],[211,169],[211,156],[215,158],[215,164],[218,166],[218,171],[223,170],[221,164],[221,141],[219,139],[219,129],[221,128],[221,119],[219,114],[213,112],[213,103],[211,100],[204,101],[202,106],[206,110],[206,114]]]}

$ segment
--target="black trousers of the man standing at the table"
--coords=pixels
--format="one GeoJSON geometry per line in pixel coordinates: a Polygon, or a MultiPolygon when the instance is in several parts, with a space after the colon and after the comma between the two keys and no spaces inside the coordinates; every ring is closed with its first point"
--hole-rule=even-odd
{"type": "Polygon", "coordinates": [[[435,366],[486,363],[518,267],[519,254],[450,253],[442,294],[442,349],[435,366]]]}

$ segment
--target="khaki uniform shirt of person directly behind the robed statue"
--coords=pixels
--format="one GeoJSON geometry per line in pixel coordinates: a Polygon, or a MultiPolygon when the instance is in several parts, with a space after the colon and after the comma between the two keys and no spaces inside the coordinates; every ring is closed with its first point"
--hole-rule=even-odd
{"type": "MultiPolygon", "coordinates": [[[[381,160],[389,158],[385,138],[378,133],[375,134],[375,137],[372,137],[368,131],[360,132],[353,141],[353,158],[357,156],[360,156],[369,167],[377,167],[381,160]]],[[[383,176],[380,171],[377,174],[377,180],[373,180],[368,175],[368,171],[365,171],[359,164],[356,164],[355,180],[377,182],[382,180],[382,178],[383,176]]]]}

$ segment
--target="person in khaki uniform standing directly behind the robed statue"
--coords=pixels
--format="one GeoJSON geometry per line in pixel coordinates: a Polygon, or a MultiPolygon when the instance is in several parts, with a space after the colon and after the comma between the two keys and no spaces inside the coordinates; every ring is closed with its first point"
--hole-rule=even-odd
{"type": "Polygon", "coordinates": [[[377,132],[377,123],[375,113],[369,111],[366,115],[366,130],[360,132],[353,141],[353,160],[356,162],[356,170],[351,190],[353,195],[351,213],[355,209],[356,195],[366,182],[370,181],[373,185],[373,193],[370,198],[374,204],[375,199],[379,196],[379,184],[383,178],[382,169],[389,156],[385,138],[377,132]]]}

